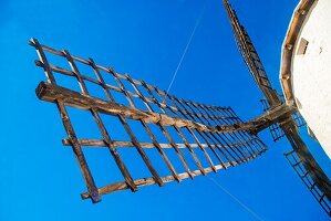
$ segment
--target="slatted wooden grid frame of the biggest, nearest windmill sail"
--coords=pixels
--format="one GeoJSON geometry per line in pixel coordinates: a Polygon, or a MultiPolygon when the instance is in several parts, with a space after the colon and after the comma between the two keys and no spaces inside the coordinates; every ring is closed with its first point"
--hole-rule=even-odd
{"type": "Polygon", "coordinates": [[[164,186],[165,182],[177,181],[183,179],[194,178],[199,175],[207,175],[208,172],[217,172],[220,169],[226,169],[229,166],[251,160],[266,151],[266,145],[256,136],[248,134],[240,129],[230,129],[231,126],[242,123],[235,114],[231,107],[218,107],[210,105],[201,105],[194,102],[186,102],[178,99],[175,96],[169,96],[166,92],[158,90],[155,86],[146,84],[144,81],[133,80],[130,75],[122,75],[116,73],[113,69],[107,69],[94,63],[92,59],[84,60],[71,55],[66,50],[58,51],[49,46],[42,45],[38,40],[32,39],[30,44],[37,49],[39,61],[35,61],[38,66],[43,67],[48,82],[41,82],[37,88],[37,94],[40,99],[55,103],[68,134],[68,139],[63,140],[66,146],[72,146],[75,157],[79,161],[80,169],[85,180],[87,192],[82,193],[83,199],[91,198],[93,202],[101,200],[101,194],[115,192],[118,190],[131,189],[136,191],[138,187],[155,185],[164,186]],[[71,70],[55,66],[48,61],[46,54],[64,57],[70,64],[71,70]],[[80,72],[76,63],[86,65],[93,70],[96,80],[86,76],[80,72]],[[112,85],[105,82],[100,72],[107,73],[114,77],[117,85],[112,85]],[[80,92],[72,88],[65,88],[56,84],[55,75],[62,74],[73,77],[80,85],[80,92]],[[130,83],[134,91],[125,88],[123,82],[130,83]],[[104,91],[107,101],[90,95],[85,82],[93,83],[104,91]],[[145,90],[145,94],[142,93],[145,90]],[[112,93],[122,93],[130,105],[120,104],[114,101],[112,93]],[[145,105],[145,109],[136,107],[133,98],[138,98],[145,105]],[[103,139],[79,139],[73,125],[71,123],[68,106],[73,106],[80,109],[90,112],[103,136],[103,139]],[[152,106],[157,106],[158,110],[152,106]],[[113,140],[107,131],[100,113],[112,117],[117,117],[125,128],[130,140],[113,140]],[[143,143],[137,139],[127,123],[127,119],[137,120],[142,124],[145,131],[148,134],[152,143],[143,143]],[[153,134],[149,125],[156,125],[167,143],[161,144],[157,137],[153,134]],[[172,127],[175,129],[177,136],[182,141],[176,143],[167,130],[172,127]],[[184,131],[186,134],[184,134],[184,131]],[[188,137],[193,138],[194,143],[188,141],[188,137]],[[97,188],[93,179],[86,159],[84,157],[82,147],[107,147],[113,156],[124,180],[115,183],[110,183],[97,188]],[[152,177],[133,179],[126,165],[121,158],[117,148],[135,148],[138,155],[147,166],[152,177]],[[162,156],[165,165],[169,170],[169,175],[161,177],[154,168],[145,149],[156,148],[162,156]],[[183,164],[185,171],[177,172],[173,166],[173,161],[167,157],[167,149],[174,149],[177,154],[178,160],[183,164]],[[192,159],[198,169],[192,169],[187,159],[183,156],[182,150],[188,149],[192,159]],[[208,166],[203,166],[200,158],[195,151],[200,150],[203,156],[207,159],[208,166]],[[208,151],[207,151],[208,150],[208,151]],[[211,155],[213,158],[211,159],[211,155]],[[217,159],[217,161],[215,161],[217,159]]]}

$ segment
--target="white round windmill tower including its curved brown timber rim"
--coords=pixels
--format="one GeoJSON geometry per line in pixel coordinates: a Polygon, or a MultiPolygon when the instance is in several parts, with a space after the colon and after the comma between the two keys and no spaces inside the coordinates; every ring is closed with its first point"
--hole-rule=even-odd
{"type": "Polygon", "coordinates": [[[298,107],[309,134],[331,158],[330,34],[331,2],[301,1],[282,46],[280,80],[287,103],[298,107]],[[319,96],[317,96],[319,95],[319,96]]]}

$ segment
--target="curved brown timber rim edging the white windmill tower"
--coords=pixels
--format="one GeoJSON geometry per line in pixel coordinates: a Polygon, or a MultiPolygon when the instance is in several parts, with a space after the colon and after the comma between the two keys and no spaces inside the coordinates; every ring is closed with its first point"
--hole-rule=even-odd
{"type": "Polygon", "coordinates": [[[298,38],[318,1],[319,0],[301,0],[299,2],[292,14],[282,44],[279,80],[286,101],[290,106],[297,106],[292,87],[292,60],[298,45],[298,38]]]}

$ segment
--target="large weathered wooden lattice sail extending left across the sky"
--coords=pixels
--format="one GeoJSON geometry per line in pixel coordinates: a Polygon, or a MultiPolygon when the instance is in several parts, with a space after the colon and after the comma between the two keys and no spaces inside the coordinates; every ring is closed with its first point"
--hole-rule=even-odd
{"type": "Polygon", "coordinates": [[[63,144],[72,147],[87,187],[83,199],[99,202],[102,194],[120,190],[136,191],[144,186],[162,187],[170,181],[194,179],[250,161],[267,150],[256,135],[231,127],[241,119],[230,107],[178,99],[144,81],[95,64],[92,59],[51,49],[35,39],[30,44],[40,59],[35,64],[44,70],[48,78],[40,83],[37,95],[58,106],[68,134],[63,144]],[[64,76],[65,84],[61,81],[64,76]],[[70,107],[87,113],[101,138],[80,137],[70,107]],[[107,119],[118,124],[108,125],[107,119]],[[126,135],[124,140],[114,139],[121,130],[126,135]],[[86,148],[108,149],[122,180],[99,187],[83,151],[86,148]],[[128,154],[131,158],[125,160],[128,154]],[[132,168],[144,170],[144,177],[137,177],[132,168]]]}

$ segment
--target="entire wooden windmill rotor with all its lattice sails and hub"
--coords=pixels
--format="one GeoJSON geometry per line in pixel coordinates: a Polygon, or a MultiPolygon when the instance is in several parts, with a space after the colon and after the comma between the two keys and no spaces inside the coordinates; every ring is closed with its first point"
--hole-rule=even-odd
{"type": "Polygon", "coordinates": [[[35,64],[44,70],[46,76],[46,82],[39,84],[37,95],[42,101],[54,103],[60,112],[68,134],[63,145],[72,147],[86,183],[87,191],[81,194],[83,199],[99,202],[102,194],[126,189],[137,191],[138,188],[151,185],[163,187],[167,182],[180,182],[183,179],[194,179],[196,176],[207,176],[209,172],[246,164],[268,149],[258,133],[279,125],[293,147],[287,155],[288,158],[294,160],[291,162],[296,169],[303,168],[304,175],[301,177],[311,181],[311,191],[322,192],[318,199],[330,214],[330,180],[298,134],[293,119],[297,107],[283,103],[272,88],[236,12],[228,1],[224,0],[224,4],[239,51],[268,104],[268,110],[263,115],[246,123],[231,107],[179,99],[144,81],[99,65],[92,59],[82,59],[71,55],[66,50],[52,49],[35,39],[30,41],[39,55],[35,64]],[[52,63],[50,56],[64,60],[69,69],[52,63]],[[58,81],[59,76],[68,76],[79,87],[62,85],[58,81]],[[91,85],[93,87],[90,87],[91,85]],[[91,88],[97,88],[101,93],[91,88]],[[77,136],[69,113],[71,107],[90,115],[101,138],[77,136]],[[118,122],[116,129],[122,128],[127,139],[113,138],[113,131],[108,129],[113,125],[106,124],[107,118],[118,122]],[[100,147],[108,149],[122,175],[122,181],[102,187],[94,181],[83,148],[100,147]],[[156,151],[161,160],[157,161],[151,151],[156,151]],[[130,169],[131,162],[123,157],[128,152],[142,160],[146,176],[136,177],[130,169]],[[166,172],[158,168],[159,162],[167,168],[166,172]]]}

